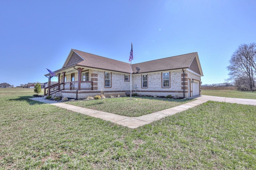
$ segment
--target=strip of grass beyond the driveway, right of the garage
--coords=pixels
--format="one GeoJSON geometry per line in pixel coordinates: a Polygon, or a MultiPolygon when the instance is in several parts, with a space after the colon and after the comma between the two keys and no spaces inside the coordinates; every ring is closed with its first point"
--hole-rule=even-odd
{"type": "Polygon", "coordinates": [[[238,90],[202,90],[202,95],[256,99],[256,92],[242,92],[238,90]]]}

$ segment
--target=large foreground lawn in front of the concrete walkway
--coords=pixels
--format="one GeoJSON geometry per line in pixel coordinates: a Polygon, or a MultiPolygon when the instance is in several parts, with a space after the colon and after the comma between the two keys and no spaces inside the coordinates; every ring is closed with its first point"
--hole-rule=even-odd
{"type": "Polygon", "coordinates": [[[256,106],[206,102],[130,129],[33,94],[0,89],[1,170],[256,169],[256,106]]]}

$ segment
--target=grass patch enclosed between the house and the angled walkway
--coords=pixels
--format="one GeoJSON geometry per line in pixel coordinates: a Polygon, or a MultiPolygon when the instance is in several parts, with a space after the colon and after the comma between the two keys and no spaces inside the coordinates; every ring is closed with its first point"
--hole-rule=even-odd
{"type": "Polygon", "coordinates": [[[100,110],[104,112],[114,113],[122,116],[137,117],[164,109],[179,106],[192,99],[166,99],[166,98],[150,98],[150,97],[123,97],[108,98],[104,100],[82,100],[80,102],[66,102],[75,106],[100,110]]]}

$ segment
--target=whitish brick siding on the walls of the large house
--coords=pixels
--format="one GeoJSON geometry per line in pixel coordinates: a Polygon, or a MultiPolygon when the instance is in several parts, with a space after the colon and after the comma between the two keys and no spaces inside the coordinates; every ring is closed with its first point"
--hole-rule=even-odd
{"type": "MultiPolygon", "coordinates": [[[[110,71],[106,71],[110,72],[110,71]]],[[[188,80],[200,80],[200,76],[184,69],[185,82],[183,82],[182,70],[170,70],[170,87],[162,87],[162,72],[147,73],[148,75],[148,87],[142,88],[142,75],[144,74],[132,74],[132,93],[138,93],[139,95],[150,96],[167,96],[172,95],[177,98],[188,97],[188,80]],[[184,84],[184,86],[183,86],[184,84]],[[135,85],[137,88],[135,88],[135,85]],[[183,90],[185,89],[185,90],[183,90]]],[[[110,95],[125,95],[125,92],[130,92],[130,82],[124,81],[124,75],[122,73],[111,72],[111,88],[104,87],[104,71],[89,70],[89,80],[93,81],[93,90],[81,90],[78,91],[78,98],[87,98],[88,96],[95,96],[103,93],[106,96],[110,95]]],[[[66,74],[67,82],[71,80],[71,75],[66,74]]],[[[78,80],[78,74],[75,74],[75,81],[78,80]]],[[[192,84],[190,83],[190,91],[192,94],[192,84]]],[[[76,98],[76,90],[65,90],[62,92],[62,96],[76,98]],[[75,96],[75,97],[74,97],[75,96]]],[[[192,95],[191,95],[192,96],[192,95]]]]}

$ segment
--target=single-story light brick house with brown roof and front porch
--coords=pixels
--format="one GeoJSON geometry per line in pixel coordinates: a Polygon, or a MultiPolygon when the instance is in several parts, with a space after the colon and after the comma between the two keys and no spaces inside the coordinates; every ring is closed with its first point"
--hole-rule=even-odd
{"type": "Polygon", "coordinates": [[[58,84],[45,88],[45,95],[61,92],[62,97],[76,99],[125,95],[130,81],[132,93],[188,98],[200,94],[203,76],[197,52],[132,64],[130,75],[130,63],[74,49],[54,73],[58,84]]]}

